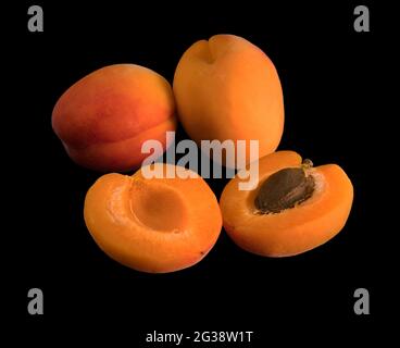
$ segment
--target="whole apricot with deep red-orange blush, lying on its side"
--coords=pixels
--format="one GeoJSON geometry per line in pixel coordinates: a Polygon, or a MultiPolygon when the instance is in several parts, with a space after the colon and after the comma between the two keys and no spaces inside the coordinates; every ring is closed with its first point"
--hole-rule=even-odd
{"type": "Polygon", "coordinates": [[[143,141],[159,140],[165,150],[165,132],[176,127],[172,88],[143,66],[105,66],[60,97],[52,127],[68,156],[85,167],[102,172],[138,167],[148,156],[141,153],[143,141]]]}

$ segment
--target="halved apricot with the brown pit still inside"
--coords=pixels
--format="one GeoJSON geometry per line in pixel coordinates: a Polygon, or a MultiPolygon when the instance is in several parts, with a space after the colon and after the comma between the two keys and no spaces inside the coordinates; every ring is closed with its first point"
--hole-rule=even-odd
{"type": "Polygon", "coordinates": [[[238,190],[236,176],[220,200],[224,227],[239,247],[267,257],[295,256],[342,229],[353,187],[340,166],[313,167],[292,151],[268,154],[259,165],[255,189],[238,190]]]}

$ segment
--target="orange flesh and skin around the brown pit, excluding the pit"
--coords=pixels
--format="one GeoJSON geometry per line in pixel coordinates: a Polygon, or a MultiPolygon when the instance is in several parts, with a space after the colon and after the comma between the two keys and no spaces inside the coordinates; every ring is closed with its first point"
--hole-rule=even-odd
{"type": "Polygon", "coordinates": [[[343,228],[353,187],[336,164],[312,169],[322,186],[308,201],[277,214],[257,212],[254,198],[260,185],[271,174],[300,164],[296,152],[278,151],[260,160],[259,186],[253,191],[239,191],[238,177],[227,184],[220,207],[225,231],[239,247],[260,256],[289,257],[321,246],[343,228]]]}

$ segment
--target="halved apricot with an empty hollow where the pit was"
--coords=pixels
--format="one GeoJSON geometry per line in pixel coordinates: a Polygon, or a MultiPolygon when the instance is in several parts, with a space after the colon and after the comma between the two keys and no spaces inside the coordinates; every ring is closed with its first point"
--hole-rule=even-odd
{"type": "Polygon", "coordinates": [[[107,174],[88,190],[85,222],[99,247],[132,269],[164,273],[193,265],[214,246],[221,228],[218,202],[189,170],[151,164],[154,170],[191,173],[188,178],[107,174]]]}

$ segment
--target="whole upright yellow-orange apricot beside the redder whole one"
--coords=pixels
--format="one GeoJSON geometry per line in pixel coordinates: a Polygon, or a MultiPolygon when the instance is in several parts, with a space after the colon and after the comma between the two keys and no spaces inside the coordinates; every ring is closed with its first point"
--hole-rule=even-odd
{"type": "Polygon", "coordinates": [[[215,35],[193,44],[180,58],[173,89],[178,117],[198,144],[259,140],[259,157],[277,148],[284,129],[279,77],[266,54],[246,39],[215,35]]]}

